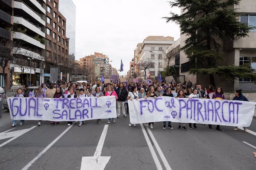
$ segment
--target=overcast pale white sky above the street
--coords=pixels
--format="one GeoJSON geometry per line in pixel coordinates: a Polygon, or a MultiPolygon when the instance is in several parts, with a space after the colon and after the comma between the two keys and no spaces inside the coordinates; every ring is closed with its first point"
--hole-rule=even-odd
{"type": "Polygon", "coordinates": [[[150,35],[180,37],[175,23],[166,23],[171,9],[166,0],[73,0],[76,5],[76,60],[100,52],[111,65],[124,72],[134,57],[138,43],[150,35]]]}

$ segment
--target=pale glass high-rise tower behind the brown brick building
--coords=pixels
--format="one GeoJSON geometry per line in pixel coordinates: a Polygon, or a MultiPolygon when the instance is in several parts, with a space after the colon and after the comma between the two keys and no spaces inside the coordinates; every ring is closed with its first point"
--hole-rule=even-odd
{"type": "Polygon", "coordinates": [[[75,59],[76,6],[72,0],[60,0],[59,11],[66,18],[66,37],[69,37],[69,59],[75,59]]]}

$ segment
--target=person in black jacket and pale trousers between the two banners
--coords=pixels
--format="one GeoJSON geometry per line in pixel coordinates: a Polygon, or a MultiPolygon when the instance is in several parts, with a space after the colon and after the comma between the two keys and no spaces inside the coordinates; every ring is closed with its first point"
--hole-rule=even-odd
{"type": "Polygon", "coordinates": [[[124,88],[124,84],[121,83],[115,92],[116,92],[116,95],[118,96],[118,99],[116,101],[117,118],[120,118],[121,112],[124,115],[124,117],[127,118],[125,114],[124,102],[127,99],[128,91],[126,88],[124,88]]]}

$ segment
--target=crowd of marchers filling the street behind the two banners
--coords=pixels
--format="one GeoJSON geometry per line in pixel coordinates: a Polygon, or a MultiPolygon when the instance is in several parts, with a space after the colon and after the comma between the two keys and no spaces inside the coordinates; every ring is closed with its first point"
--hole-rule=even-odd
{"type": "MultiPolygon", "coordinates": [[[[192,83],[190,80],[184,83],[176,83],[172,80],[169,83],[165,81],[158,82],[153,81],[151,84],[146,82],[119,82],[119,83],[102,83],[100,81],[92,83],[86,82],[60,82],[59,84],[50,83],[47,87],[46,84],[42,84],[39,88],[34,90],[35,98],[65,98],[65,95],[68,95],[67,98],[85,98],[85,97],[103,97],[103,96],[115,96],[116,98],[116,117],[120,118],[122,115],[124,118],[127,118],[129,114],[128,100],[137,100],[140,98],[157,98],[160,96],[168,96],[175,98],[207,98],[207,99],[225,99],[224,91],[221,87],[214,88],[212,85],[208,87],[201,86],[199,82],[195,84],[195,87],[192,88],[192,83]],[[64,95],[65,94],[65,95],[64,95]],[[125,109],[126,108],[126,109],[125,109]],[[125,111],[126,110],[126,111],[125,111]]],[[[22,88],[19,88],[15,93],[15,97],[29,97],[29,85],[26,85],[24,91],[22,88]]],[[[234,91],[233,100],[237,101],[248,101],[248,99],[242,94],[242,90],[234,91]]],[[[107,123],[115,122],[115,118],[109,118],[107,123]]],[[[58,124],[59,122],[50,122],[51,124],[58,124]]],[[[67,122],[70,126],[73,122],[67,122]]],[[[78,126],[85,124],[85,121],[79,121],[78,126]]],[[[97,123],[101,124],[101,119],[97,119],[97,123]]],[[[21,120],[19,125],[23,125],[24,120],[21,120]]],[[[42,120],[39,120],[38,126],[42,125],[42,120]]],[[[202,124],[204,125],[204,124],[202,124]]],[[[17,126],[17,120],[13,120],[12,126],[17,126]]],[[[129,123],[128,126],[136,126],[136,124],[129,123]]],[[[154,122],[149,123],[150,129],[153,129],[154,122]]],[[[212,129],[212,125],[208,125],[212,129]]],[[[171,122],[168,121],[167,128],[173,129],[171,122]]],[[[196,123],[188,123],[189,129],[198,130],[196,123]]],[[[163,122],[163,129],[166,129],[166,121],[163,122]]],[[[178,129],[186,129],[186,123],[178,123],[178,129]]],[[[221,131],[220,125],[216,126],[216,129],[221,131]]],[[[233,130],[238,130],[235,127],[233,130]]],[[[246,127],[244,127],[244,132],[247,132],[246,127]]]]}

